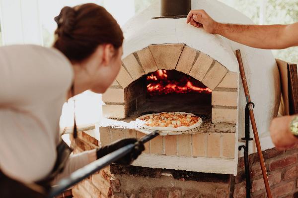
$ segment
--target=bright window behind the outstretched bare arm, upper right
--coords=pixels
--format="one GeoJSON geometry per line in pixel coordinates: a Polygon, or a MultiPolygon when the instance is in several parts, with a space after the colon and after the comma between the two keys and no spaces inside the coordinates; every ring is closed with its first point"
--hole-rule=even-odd
{"type": "MultiPolygon", "coordinates": [[[[298,21],[297,0],[220,0],[250,17],[256,24],[290,24],[298,21]]],[[[272,50],[276,58],[298,63],[298,47],[272,50]]]]}

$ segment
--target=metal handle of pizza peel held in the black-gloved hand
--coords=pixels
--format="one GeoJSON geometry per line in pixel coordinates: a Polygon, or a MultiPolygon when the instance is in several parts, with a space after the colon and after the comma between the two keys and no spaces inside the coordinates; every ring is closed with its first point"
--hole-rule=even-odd
{"type": "MultiPolygon", "coordinates": [[[[140,141],[144,144],[156,136],[159,135],[159,131],[155,130],[152,133],[142,137],[140,141]]],[[[53,187],[49,193],[49,198],[53,198],[57,195],[60,195],[68,188],[74,186],[74,184],[82,181],[83,179],[89,177],[90,175],[96,173],[100,169],[106,167],[107,165],[117,161],[121,157],[125,156],[134,148],[134,144],[129,144],[125,147],[119,148],[87,165],[74,171],[69,177],[62,179],[57,186],[53,187]]]]}

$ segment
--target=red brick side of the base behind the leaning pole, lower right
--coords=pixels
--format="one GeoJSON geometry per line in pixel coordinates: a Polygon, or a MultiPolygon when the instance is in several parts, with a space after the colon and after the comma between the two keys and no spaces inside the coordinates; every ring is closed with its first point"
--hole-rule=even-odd
{"type": "MultiPolygon", "coordinates": [[[[273,198],[298,198],[298,148],[263,151],[273,198]]],[[[265,185],[257,153],[249,155],[252,198],[266,198],[265,185]]],[[[238,159],[233,198],[245,197],[244,159],[238,159]]]]}

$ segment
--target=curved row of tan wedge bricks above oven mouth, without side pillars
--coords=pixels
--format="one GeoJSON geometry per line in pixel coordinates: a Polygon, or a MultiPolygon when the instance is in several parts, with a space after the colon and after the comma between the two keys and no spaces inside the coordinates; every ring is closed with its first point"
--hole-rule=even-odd
{"type": "Polygon", "coordinates": [[[225,75],[230,73],[221,63],[202,51],[185,44],[161,44],[149,45],[125,57],[116,81],[124,89],[143,75],[162,69],[190,75],[211,90],[221,87],[225,75]]]}

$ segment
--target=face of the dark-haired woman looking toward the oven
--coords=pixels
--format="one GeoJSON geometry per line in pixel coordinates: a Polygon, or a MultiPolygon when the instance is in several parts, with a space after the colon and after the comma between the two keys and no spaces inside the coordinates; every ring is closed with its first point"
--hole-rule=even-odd
{"type": "Polygon", "coordinates": [[[105,61],[104,66],[98,69],[97,78],[90,89],[95,93],[104,93],[116,79],[121,68],[121,56],[123,54],[122,47],[115,49],[115,52],[105,61]]]}

